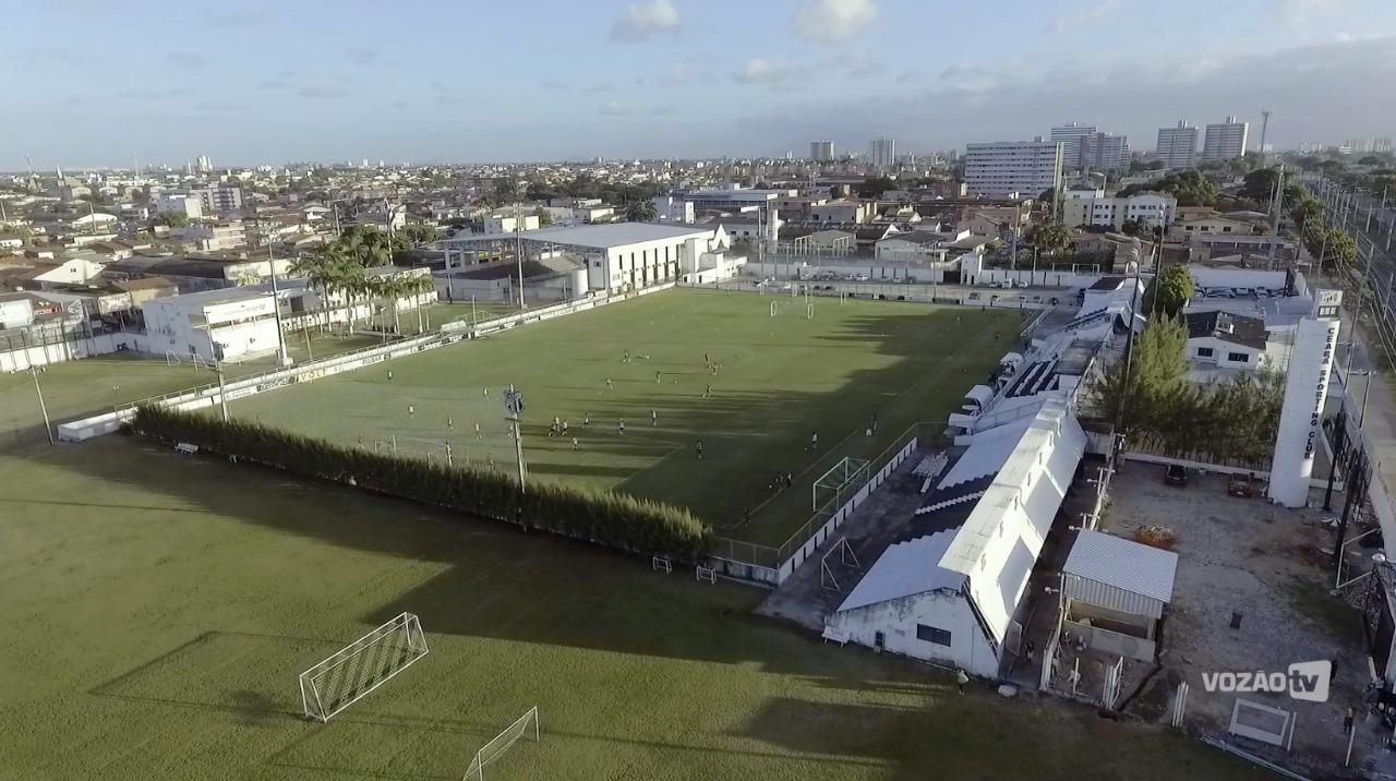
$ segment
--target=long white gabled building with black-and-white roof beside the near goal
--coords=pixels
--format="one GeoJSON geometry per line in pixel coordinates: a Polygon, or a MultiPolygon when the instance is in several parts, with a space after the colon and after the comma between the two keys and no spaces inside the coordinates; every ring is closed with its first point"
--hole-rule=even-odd
{"type": "MultiPolygon", "coordinates": [[[[1086,448],[1061,400],[974,436],[912,521],[826,619],[852,643],[998,678],[1029,576],[1086,448]]],[[[1015,626],[1016,625],[1016,626],[1015,626]]]]}

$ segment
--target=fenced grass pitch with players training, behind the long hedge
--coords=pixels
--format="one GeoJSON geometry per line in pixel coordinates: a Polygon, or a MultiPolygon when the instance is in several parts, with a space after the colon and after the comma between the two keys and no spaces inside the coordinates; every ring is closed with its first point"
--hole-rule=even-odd
{"type": "Polygon", "coordinates": [[[438,458],[450,441],[458,462],[512,469],[503,391],[514,384],[532,478],[687,506],[720,534],[779,545],[810,517],[819,474],[843,455],[879,454],[912,423],[944,421],[1013,349],[1022,323],[1018,312],[814,306],[811,320],[789,295],[669,291],[260,394],[233,415],[364,447],[395,439],[399,453],[438,458]],[[554,416],[568,436],[549,436],[554,416]],[[793,489],[772,486],[778,471],[793,489]],[[751,528],[738,528],[745,509],[751,528]]]}

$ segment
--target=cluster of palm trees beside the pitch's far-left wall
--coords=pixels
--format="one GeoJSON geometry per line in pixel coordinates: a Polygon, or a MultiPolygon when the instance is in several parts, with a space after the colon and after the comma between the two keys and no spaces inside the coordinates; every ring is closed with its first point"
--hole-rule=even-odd
{"type": "MultiPolygon", "coordinates": [[[[355,327],[355,310],[364,302],[377,302],[380,312],[392,313],[392,330],[399,327],[398,302],[408,298],[412,309],[417,313],[420,330],[422,309],[420,296],[433,288],[430,277],[420,275],[376,275],[370,277],[369,270],[392,264],[394,258],[406,253],[409,238],[426,238],[420,229],[430,232],[430,239],[436,239],[436,231],[427,225],[408,225],[403,231],[388,236],[370,225],[355,225],[348,228],[339,239],[321,246],[314,253],[303,256],[292,265],[292,274],[304,277],[306,284],[320,293],[324,306],[324,326],[329,326],[329,299],[341,298],[348,306],[349,330],[355,327]]],[[[380,323],[387,331],[387,323],[380,323]]]]}

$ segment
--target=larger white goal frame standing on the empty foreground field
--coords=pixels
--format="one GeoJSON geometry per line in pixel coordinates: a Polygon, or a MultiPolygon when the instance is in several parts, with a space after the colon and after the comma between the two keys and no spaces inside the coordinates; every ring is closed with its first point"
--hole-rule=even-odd
{"type": "Polygon", "coordinates": [[[306,718],[329,721],[427,655],[427,637],[413,613],[402,613],[300,673],[306,718]]]}

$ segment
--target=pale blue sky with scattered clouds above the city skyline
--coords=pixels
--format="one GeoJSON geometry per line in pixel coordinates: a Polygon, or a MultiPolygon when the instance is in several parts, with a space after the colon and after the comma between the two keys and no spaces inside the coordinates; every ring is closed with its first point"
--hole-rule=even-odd
{"type": "Polygon", "coordinates": [[[1396,0],[6,1],[0,170],[1396,137],[1396,0]]]}

